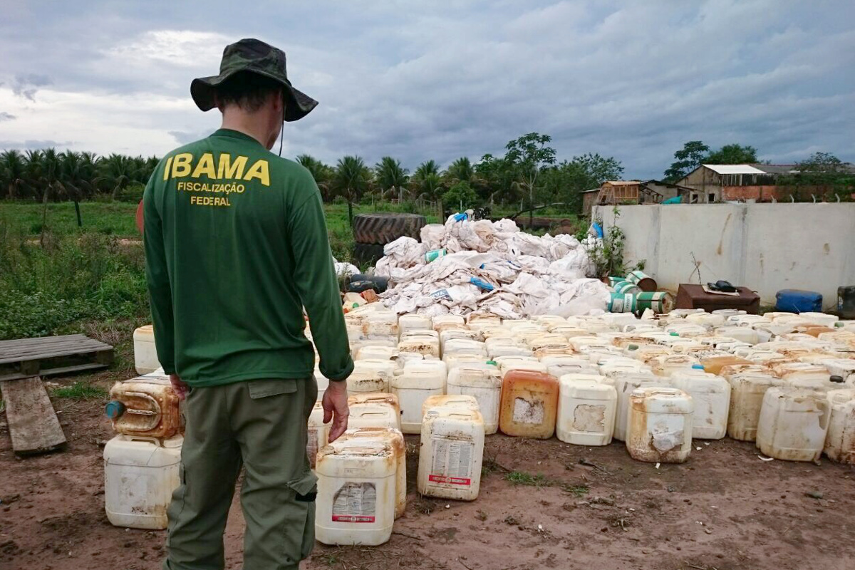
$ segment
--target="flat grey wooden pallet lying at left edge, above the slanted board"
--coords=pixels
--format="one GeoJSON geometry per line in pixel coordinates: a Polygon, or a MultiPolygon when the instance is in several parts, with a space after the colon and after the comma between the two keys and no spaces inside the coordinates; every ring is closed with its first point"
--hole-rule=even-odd
{"type": "Polygon", "coordinates": [[[0,381],[109,367],[113,347],[82,334],[0,341],[0,381]]]}

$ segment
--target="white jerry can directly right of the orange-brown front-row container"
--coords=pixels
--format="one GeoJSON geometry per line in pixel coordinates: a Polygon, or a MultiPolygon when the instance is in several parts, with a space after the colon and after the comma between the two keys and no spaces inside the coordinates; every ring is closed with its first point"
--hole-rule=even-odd
{"type": "Polygon", "coordinates": [[[559,380],[556,435],[567,444],[608,445],[615,429],[615,388],[577,376],[559,380]]]}

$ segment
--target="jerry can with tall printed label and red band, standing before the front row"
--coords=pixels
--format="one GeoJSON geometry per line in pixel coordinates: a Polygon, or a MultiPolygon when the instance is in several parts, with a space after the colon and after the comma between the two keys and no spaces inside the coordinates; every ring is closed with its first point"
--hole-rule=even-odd
{"type": "Polygon", "coordinates": [[[481,488],[484,420],[462,406],[429,408],[422,421],[418,491],[428,497],[474,501],[481,488]]]}

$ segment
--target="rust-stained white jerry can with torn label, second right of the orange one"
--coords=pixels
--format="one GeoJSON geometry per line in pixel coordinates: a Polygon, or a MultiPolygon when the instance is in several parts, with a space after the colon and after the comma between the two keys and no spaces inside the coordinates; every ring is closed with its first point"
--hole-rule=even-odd
{"type": "Polygon", "coordinates": [[[629,399],[627,450],[637,461],[682,463],[692,452],[692,397],[676,388],[639,388],[629,399]]]}

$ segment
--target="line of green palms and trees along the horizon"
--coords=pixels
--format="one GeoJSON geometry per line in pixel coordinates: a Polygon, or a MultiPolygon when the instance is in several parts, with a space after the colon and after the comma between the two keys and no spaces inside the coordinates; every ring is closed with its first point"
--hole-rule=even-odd
{"type": "MultiPolygon", "coordinates": [[[[562,204],[581,212],[581,193],[606,180],[621,179],[623,166],[615,157],[588,153],[557,161],[549,135],[530,132],[508,142],[502,156],[486,154],[477,162],[462,156],[445,169],[434,160],[415,170],[384,156],[374,165],[356,155],[343,156],[335,165],[314,156],[297,156],[321,190],[326,202],[359,203],[378,200],[442,201],[464,208],[495,204],[531,207],[562,204]]],[[[711,150],[701,141],[689,141],[675,152],[675,162],[664,179],[675,182],[703,163],[758,163],[752,146],[726,144],[711,150]]],[[[139,199],[159,159],[156,156],[97,156],[91,152],[55,149],[6,150],[0,153],[0,195],[9,199],[84,200],[96,196],[139,199]]],[[[827,153],[816,153],[797,165],[799,180],[811,184],[852,186],[852,167],[827,153]],[[809,175],[807,173],[810,173],[809,175]],[[829,182],[830,181],[830,182],[829,182]]]]}

